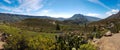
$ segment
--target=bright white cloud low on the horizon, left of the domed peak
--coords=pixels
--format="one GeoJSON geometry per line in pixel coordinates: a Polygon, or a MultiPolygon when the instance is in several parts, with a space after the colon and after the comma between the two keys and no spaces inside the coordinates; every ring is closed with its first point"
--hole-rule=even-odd
{"type": "Polygon", "coordinates": [[[69,18],[69,17],[72,17],[73,14],[67,14],[67,13],[56,13],[50,9],[46,9],[46,10],[41,10],[40,12],[36,12],[34,13],[33,15],[36,15],[36,16],[51,16],[51,17],[55,17],[55,18],[60,18],[60,17],[63,17],[63,18],[69,18]]]}

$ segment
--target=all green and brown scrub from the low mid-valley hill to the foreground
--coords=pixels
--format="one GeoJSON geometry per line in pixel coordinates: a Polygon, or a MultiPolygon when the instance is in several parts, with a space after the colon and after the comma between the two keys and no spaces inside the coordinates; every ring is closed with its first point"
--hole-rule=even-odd
{"type": "Polygon", "coordinates": [[[5,50],[97,50],[91,43],[93,38],[101,38],[108,30],[113,33],[120,30],[117,23],[111,30],[107,25],[48,23],[49,20],[39,23],[39,19],[23,21],[0,25],[1,33],[11,35],[5,38],[5,50]]]}

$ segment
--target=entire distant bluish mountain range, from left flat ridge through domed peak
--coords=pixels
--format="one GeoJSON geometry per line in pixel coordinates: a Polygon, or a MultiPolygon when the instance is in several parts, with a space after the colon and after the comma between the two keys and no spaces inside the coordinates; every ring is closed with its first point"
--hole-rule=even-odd
{"type": "Polygon", "coordinates": [[[98,21],[100,18],[91,17],[91,16],[84,16],[82,14],[75,14],[71,18],[53,18],[50,16],[30,16],[30,15],[18,15],[18,14],[9,14],[9,13],[0,13],[0,22],[16,22],[20,20],[24,20],[27,18],[40,18],[40,19],[52,19],[58,21],[72,21],[72,22],[92,22],[98,21]]]}

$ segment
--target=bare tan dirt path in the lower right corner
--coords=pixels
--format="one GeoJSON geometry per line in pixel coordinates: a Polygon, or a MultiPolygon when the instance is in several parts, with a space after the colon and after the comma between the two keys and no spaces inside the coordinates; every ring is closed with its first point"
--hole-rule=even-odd
{"type": "Polygon", "coordinates": [[[98,46],[100,50],[120,50],[120,33],[110,37],[102,37],[98,42],[98,46]]]}

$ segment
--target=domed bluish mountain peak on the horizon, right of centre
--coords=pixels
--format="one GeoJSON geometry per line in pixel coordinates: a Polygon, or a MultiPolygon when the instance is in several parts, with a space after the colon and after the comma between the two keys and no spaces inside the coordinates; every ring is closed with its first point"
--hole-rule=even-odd
{"type": "Polygon", "coordinates": [[[73,24],[84,24],[89,23],[93,21],[98,21],[100,18],[97,17],[91,17],[91,16],[85,16],[82,14],[75,14],[71,18],[68,18],[64,22],[73,23],[73,24]]]}

